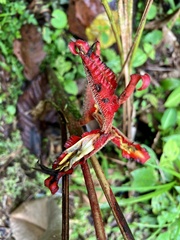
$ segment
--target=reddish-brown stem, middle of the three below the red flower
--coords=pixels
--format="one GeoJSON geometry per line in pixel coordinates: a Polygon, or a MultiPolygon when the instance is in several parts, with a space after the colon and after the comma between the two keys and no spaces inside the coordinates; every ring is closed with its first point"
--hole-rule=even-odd
{"type": "Polygon", "coordinates": [[[85,180],[85,184],[88,192],[88,198],[91,206],[91,212],[92,212],[94,227],[96,231],[96,238],[98,240],[104,240],[106,239],[104,224],[103,224],[103,220],[100,212],[100,207],[98,204],[97,195],[94,188],[94,183],[92,181],[91,173],[90,173],[87,162],[84,162],[81,165],[81,168],[82,168],[82,172],[84,175],[84,180],[85,180]]]}

